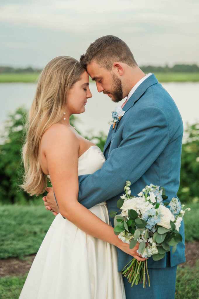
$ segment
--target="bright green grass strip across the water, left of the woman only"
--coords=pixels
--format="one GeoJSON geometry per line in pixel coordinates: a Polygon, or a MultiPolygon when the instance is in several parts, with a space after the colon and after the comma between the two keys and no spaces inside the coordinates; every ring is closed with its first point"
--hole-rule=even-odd
{"type": "Polygon", "coordinates": [[[40,73],[0,74],[0,83],[35,83],[40,73]]]}

